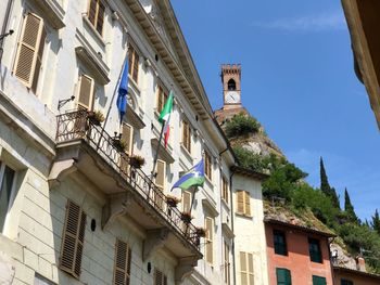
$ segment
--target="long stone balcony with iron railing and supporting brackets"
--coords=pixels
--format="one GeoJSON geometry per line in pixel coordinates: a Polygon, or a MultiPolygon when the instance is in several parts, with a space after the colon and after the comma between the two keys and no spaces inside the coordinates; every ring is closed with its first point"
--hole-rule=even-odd
{"type": "Polygon", "coordinates": [[[56,157],[49,184],[53,187],[74,172],[85,176],[106,197],[102,228],[128,215],[145,231],[143,259],[165,246],[178,258],[176,281],[180,282],[202,258],[197,228],[181,220],[181,212],[168,205],[149,176],[129,164],[128,155],[115,142],[89,118],[87,111],[59,115],[56,157]]]}

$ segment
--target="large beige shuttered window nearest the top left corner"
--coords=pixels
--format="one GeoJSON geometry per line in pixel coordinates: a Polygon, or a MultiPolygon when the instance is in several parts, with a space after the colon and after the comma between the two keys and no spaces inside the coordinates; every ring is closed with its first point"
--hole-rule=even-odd
{"type": "Polygon", "coordinates": [[[34,92],[41,69],[45,39],[43,20],[33,13],[26,14],[17,47],[14,75],[34,92]]]}

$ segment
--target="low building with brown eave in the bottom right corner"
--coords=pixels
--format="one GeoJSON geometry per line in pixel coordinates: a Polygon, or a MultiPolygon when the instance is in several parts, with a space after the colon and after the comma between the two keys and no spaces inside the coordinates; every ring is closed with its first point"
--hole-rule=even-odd
{"type": "Polygon", "coordinates": [[[343,267],[333,267],[335,285],[379,285],[380,275],[343,267]]]}

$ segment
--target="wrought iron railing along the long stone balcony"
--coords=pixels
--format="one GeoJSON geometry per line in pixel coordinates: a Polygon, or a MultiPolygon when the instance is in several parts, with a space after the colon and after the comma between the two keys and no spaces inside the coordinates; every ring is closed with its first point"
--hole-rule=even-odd
{"type": "Polygon", "coordinates": [[[149,207],[161,215],[182,237],[199,250],[199,229],[182,220],[181,212],[167,203],[166,195],[141,169],[129,163],[129,157],[101,126],[89,117],[87,111],[75,111],[58,116],[56,143],[81,140],[90,145],[129,185],[149,207]]]}

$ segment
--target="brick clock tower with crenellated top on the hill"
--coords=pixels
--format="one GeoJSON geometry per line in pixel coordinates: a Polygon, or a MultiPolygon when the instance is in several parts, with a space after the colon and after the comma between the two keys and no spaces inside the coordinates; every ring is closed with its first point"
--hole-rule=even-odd
{"type": "Polygon", "coordinates": [[[221,65],[223,82],[223,109],[241,108],[241,65],[224,64],[221,65]]]}

